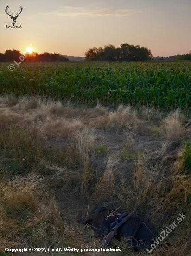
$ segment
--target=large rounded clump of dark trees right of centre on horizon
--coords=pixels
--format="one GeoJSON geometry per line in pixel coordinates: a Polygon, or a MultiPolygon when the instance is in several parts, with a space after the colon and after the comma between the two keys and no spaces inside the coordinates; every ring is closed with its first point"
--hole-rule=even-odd
{"type": "Polygon", "coordinates": [[[108,44],[85,52],[85,61],[148,61],[153,57],[151,50],[139,45],[121,44],[119,48],[108,44]]]}

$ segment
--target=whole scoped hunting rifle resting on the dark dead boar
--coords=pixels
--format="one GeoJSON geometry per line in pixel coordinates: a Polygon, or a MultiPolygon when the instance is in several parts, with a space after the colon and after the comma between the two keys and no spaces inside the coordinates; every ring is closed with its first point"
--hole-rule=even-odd
{"type": "MultiPolygon", "coordinates": [[[[146,199],[148,200],[148,199],[146,199]]],[[[146,202],[146,200],[144,202],[146,202]]],[[[103,248],[106,248],[108,246],[108,244],[110,243],[111,239],[113,238],[113,236],[117,235],[117,229],[125,222],[127,222],[127,220],[138,210],[138,208],[144,203],[142,202],[137,208],[135,208],[131,213],[127,214],[127,212],[125,212],[119,219],[117,218],[117,220],[113,223],[110,224],[110,233],[105,236],[101,242],[103,248]]]]}

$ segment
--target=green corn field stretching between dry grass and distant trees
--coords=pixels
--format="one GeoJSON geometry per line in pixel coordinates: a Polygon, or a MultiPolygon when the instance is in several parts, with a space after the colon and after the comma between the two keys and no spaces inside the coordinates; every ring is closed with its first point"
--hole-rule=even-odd
{"type": "Polygon", "coordinates": [[[14,71],[9,71],[9,64],[0,63],[0,94],[190,112],[191,62],[21,63],[14,71]]]}

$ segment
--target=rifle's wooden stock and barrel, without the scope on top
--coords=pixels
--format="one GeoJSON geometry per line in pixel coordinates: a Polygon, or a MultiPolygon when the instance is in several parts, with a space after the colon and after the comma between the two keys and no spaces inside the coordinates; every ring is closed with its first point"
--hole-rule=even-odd
{"type": "MultiPolygon", "coordinates": [[[[147,199],[146,199],[147,200],[147,199]]],[[[146,202],[146,200],[144,202],[146,202]]],[[[126,222],[134,213],[138,210],[138,208],[144,203],[142,202],[137,208],[135,208],[131,213],[129,213],[121,222],[117,223],[115,229],[111,231],[107,236],[105,236],[101,242],[103,248],[106,248],[110,241],[112,240],[113,236],[117,235],[117,229],[126,222]]]]}

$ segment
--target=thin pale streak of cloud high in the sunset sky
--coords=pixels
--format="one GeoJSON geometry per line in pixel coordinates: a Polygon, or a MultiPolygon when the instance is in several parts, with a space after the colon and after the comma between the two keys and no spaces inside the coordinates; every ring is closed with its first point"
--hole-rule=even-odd
{"type": "Polygon", "coordinates": [[[97,9],[97,10],[88,10],[84,7],[72,7],[64,6],[64,10],[61,13],[57,13],[59,16],[127,16],[132,13],[140,13],[141,11],[136,11],[132,9],[97,9]]]}

